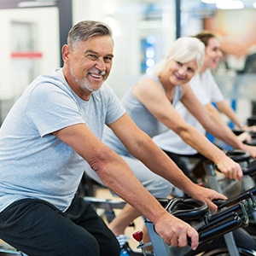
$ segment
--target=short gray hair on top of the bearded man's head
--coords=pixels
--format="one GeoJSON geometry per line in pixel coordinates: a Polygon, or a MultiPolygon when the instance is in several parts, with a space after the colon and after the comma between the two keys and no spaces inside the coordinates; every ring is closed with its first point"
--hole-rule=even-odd
{"type": "Polygon", "coordinates": [[[77,43],[87,41],[97,36],[109,36],[112,38],[112,31],[107,24],[101,21],[82,20],[74,25],[68,32],[67,44],[73,49],[77,43]]]}

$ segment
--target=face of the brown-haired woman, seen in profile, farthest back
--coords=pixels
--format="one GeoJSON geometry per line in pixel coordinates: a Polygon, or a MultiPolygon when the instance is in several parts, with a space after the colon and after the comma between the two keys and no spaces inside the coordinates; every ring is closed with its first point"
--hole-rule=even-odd
{"type": "Polygon", "coordinates": [[[210,38],[206,47],[204,67],[215,69],[223,54],[217,38],[210,38]]]}

